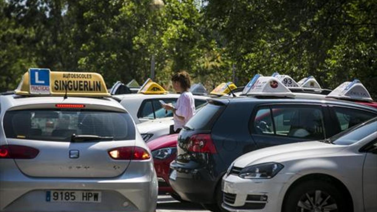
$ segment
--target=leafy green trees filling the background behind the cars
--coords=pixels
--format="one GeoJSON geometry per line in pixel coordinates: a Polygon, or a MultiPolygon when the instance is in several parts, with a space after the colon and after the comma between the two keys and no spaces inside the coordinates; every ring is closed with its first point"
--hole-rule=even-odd
{"type": "Polygon", "coordinates": [[[0,91],[30,67],[141,84],[154,55],[167,89],[182,69],[208,89],[277,71],[331,89],[357,78],[377,98],[377,0],[156,2],[0,0],[0,91]]]}

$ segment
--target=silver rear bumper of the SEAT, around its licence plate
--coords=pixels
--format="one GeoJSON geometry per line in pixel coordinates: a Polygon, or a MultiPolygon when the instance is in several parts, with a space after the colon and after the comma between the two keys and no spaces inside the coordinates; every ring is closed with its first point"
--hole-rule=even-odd
{"type": "MultiPolygon", "coordinates": [[[[11,163],[14,162],[7,160],[0,166],[2,170],[6,170],[0,173],[1,211],[152,212],[156,208],[157,177],[152,162],[145,164],[149,167],[147,172],[146,169],[141,170],[140,173],[125,172],[116,178],[35,178],[24,175],[11,163]],[[47,190],[101,191],[102,201],[101,203],[47,202],[47,190]]],[[[130,163],[130,166],[136,165],[130,163]]]]}

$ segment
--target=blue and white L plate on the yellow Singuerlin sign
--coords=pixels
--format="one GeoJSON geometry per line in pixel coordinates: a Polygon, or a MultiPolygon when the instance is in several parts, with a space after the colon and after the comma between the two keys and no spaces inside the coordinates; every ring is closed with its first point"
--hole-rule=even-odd
{"type": "Polygon", "coordinates": [[[50,94],[50,69],[29,69],[30,93],[50,94]]]}

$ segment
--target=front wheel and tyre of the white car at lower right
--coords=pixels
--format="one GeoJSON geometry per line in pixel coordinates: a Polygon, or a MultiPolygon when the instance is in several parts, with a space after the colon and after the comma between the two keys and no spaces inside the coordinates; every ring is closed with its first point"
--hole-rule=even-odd
{"type": "Polygon", "coordinates": [[[294,186],[286,195],[283,212],[293,211],[351,212],[345,196],[327,181],[310,180],[294,186]],[[329,209],[329,210],[326,210],[329,209]]]}

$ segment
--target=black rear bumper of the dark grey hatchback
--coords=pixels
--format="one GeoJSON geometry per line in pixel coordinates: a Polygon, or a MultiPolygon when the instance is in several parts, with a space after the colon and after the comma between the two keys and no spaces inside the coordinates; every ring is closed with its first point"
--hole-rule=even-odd
{"type": "Polygon", "coordinates": [[[214,192],[217,180],[204,168],[192,168],[173,161],[170,169],[176,171],[175,179],[169,178],[169,183],[175,192],[186,201],[201,204],[214,203],[214,192]]]}

